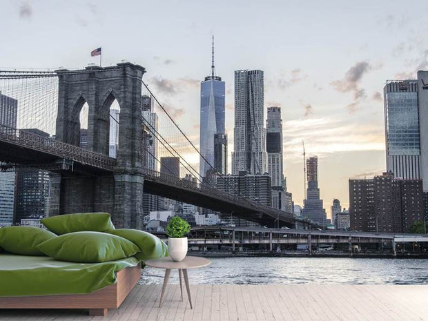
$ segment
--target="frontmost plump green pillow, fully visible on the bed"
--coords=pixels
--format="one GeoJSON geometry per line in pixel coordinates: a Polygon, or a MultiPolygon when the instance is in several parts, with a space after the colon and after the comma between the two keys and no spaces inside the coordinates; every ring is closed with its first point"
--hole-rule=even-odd
{"type": "Polygon", "coordinates": [[[138,247],[123,237],[101,232],[74,232],[57,236],[37,246],[60,261],[99,263],[133,256],[138,247]]]}

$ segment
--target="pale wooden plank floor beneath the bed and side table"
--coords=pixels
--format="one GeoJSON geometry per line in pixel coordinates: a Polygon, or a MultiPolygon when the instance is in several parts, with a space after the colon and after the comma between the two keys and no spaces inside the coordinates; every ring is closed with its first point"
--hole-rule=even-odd
{"type": "Polygon", "coordinates": [[[106,317],[79,310],[0,310],[0,320],[428,320],[428,285],[137,285],[119,309],[106,317]]]}

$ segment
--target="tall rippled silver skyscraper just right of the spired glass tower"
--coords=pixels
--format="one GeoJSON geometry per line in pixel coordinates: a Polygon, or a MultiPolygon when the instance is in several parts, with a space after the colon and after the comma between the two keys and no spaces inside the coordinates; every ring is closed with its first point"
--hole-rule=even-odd
{"type": "Polygon", "coordinates": [[[262,70],[235,71],[235,128],[232,174],[266,173],[264,75],[262,70]]]}

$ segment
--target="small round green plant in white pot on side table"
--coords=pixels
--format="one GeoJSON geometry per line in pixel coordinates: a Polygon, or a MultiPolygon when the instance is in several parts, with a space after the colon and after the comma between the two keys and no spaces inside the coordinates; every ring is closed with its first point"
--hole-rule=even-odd
{"type": "Polygon", "coordinates": [[[166,234],[168,235],[168,254],[175,262],[184,260],[187,254],[187,237],[191,231],[191,226],[182,219],[182,217],[174,216],[166,226],[166,234]]]}

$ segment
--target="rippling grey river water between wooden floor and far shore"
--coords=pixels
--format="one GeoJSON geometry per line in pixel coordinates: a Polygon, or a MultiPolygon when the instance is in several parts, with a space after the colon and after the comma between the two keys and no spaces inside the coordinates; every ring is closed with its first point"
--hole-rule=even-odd
{"type": "MultiPolygon", "coordinates": [[[[188,270],[192,284],[428,284],[428,259],[222,257],[188,270]]],[[[142,284],[162,284],[163,269],[146,266],[142,284]]],[[[170,283],[179,282],[172,271],[170,283]]]]}

